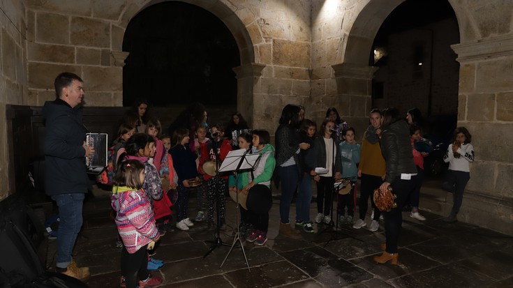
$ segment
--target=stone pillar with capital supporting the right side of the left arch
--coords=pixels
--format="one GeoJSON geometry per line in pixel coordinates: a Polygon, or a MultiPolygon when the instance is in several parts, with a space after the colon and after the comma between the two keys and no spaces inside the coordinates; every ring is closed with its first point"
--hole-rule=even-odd
{"type": "MultiPolygon", "coordinates": [[[[258,91],[258,79],[262,76],[265,64],[251,63],[233,68],[237,77],[237,110],[248,121],[249,127],[257,126],[263,115],[255,112],[253,93],[258,91]]],[[[263,104],[263,103],[260,103],[263,104]]]]}

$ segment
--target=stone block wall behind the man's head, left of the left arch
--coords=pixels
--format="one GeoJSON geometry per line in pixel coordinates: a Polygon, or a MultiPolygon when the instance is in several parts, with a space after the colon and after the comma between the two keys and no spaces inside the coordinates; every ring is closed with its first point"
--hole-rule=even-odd
{"type": "Polygon", "coordinates": [[[124,1],[27,0],[28,105],[53,100],[53,81],[63,71],[84,79],[90,106],[121,106],[121,51],[117,26],[124,1]]]}

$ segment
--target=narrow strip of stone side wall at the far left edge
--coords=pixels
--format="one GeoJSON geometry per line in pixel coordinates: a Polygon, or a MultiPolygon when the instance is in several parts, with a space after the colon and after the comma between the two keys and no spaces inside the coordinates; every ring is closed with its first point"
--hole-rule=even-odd
{"type": "Polygon", "coordinates": [[[10,194],[8,183],[7,104],[27,102],[25,8],[21,1],[0,1],[0,200],[10,194]]]}

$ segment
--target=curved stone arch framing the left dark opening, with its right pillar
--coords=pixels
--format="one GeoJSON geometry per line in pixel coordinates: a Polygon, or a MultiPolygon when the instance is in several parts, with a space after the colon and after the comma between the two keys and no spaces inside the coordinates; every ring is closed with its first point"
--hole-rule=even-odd
{"type": "MultiPolygon", "coordinates": [[[[265,67],[260,64],[255,64],[253,42],[264,42],[260,32],[255,31],[255,29],[246,29],[246,25],[241,21],[235,11],[230,9],[227,4],[223,3],[224,1],[218,0],[146,0],[140,4],[131,3],[128,4],[121,13],[119,27],[124,31],[130,20],[137,15],[137,13],[140,13],[144,8],[165,1],[181,1],[203,8],[218,17],[232,33],[237,47],[239,48],[241,62],[241,66],[233,68],[237,77],[237,109],[242,114],[248,115],[246,120],[251,123],[253,120],[253,86],[255,85],[256,79],[260,77],[262,69],[265,67]]],[[[117,47],[121,47],[123,37],[120,38],[121,43],[119,43],[119,45],[117,44],[117,47]]],[[[112,45],[114,46],[114,43],[112,45]]],[[[121,63],[124,62],[128,53],[119,51],[112,52],[112,55],[117,59],[119,65],[123,65],[121,63]]]]}

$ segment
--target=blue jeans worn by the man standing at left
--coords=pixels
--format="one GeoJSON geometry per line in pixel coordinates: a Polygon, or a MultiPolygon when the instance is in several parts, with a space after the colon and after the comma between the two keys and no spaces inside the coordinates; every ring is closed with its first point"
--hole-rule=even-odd
{"type": "Polygon", "coordinates": [[[59,206],[59,229],[57,230],[57,267],[68,268],[78,232],[82,227],[84,193],[52,195],[59,206]]]}

